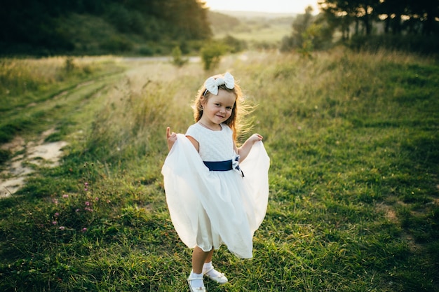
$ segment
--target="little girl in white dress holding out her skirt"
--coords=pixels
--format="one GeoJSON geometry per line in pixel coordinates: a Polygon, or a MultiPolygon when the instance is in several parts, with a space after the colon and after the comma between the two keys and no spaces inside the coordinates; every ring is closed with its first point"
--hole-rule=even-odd
{"type": "Polygon", "coordinates": [[[203,276],[228,281],[212,266],[221,244],[239,258],[252,257],[252,237],[266,213],[270,160],[259,134],[236,146],[243,113],[241,88],[226,73],[208,78],[199,90],[196,123],[185,135],[166,129],[166,201],[177,234],[194,249],[187,279],[193,292],[205,291],[203,276]]]}

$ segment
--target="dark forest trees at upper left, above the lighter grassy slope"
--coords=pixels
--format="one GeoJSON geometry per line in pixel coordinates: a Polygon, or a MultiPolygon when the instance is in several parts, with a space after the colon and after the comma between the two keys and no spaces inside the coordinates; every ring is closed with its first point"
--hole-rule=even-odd
{"type": "Polygon", "coordinates": [[[74,50],[72,31],[62,26],[72,14],[100,18],[116,32],[140,41],[200,40],[211,35],[207,8],[200,0],[3,1],[0,53],[17,48],[74,50]]]}

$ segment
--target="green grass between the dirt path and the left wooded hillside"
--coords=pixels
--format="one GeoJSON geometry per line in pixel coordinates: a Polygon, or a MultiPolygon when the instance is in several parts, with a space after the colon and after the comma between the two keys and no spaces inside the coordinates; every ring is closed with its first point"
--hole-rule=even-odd
{"type": "Polygon", "coordinates": [[[60,106],[60,97],[72,88],[120,71],[113,57],[1,59],[0,143],[56,115],[53,104],[60,106]]]}

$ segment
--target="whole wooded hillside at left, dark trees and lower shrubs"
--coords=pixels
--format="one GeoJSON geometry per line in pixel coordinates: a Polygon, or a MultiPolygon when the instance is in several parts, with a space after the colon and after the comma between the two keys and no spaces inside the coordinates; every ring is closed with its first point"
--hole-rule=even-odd
{"type": "Polygon", "coordinates": [[[209,39],[203,5],[197,0],[7,1],[0,11],[0,54],[121,53],[145,42],[209,39]],[[90,22],[95,27],[83,28],[90,22]]]}

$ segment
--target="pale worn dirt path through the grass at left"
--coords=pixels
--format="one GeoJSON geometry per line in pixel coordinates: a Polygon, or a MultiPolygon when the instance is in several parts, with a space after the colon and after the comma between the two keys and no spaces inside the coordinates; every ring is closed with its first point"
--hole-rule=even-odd
{"type": "MultiPolygon", "coordinates": [[[[16,193],[25,185],[27,178],[38,171],[39,167],[56,167],[62,157],[62,148],[67,146],[66,141],[45,142],[46,138],[55,133],[55,126],[69,115],[69,111],[75,111],[74,107],[81,107],[92,102],[94,96],[103,90],[106,85],[114,81],[113,74],[77,84],[74,88],[65,90],[53,98],[43,102],[33,102],[23,109],[31,111],[61,111],[65,115],[50,116],[48,130],[39,135],[27,133],[25,136],[17,136],[13,141],[0,145],[4,151],[11,153],[11,160],[1,166],[0,172],[0,198],[8,197],[16,193]]],[[[23,113],[25,114],[25,113],[23,113]]]]}

